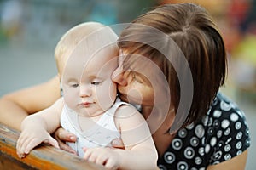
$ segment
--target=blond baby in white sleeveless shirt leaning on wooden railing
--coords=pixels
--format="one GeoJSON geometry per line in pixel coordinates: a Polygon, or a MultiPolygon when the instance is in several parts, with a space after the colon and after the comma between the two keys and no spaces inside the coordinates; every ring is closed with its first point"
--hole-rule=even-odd
{"type": "Polygon", "coordinates": [[[63,97],[22,122],[18,156],[25,157],[42,142],[59,148],[50,133],[62,126],[78,137],[69,145],[87,161],[110,169],[157,169],[147,122],[120,101],[111,79],[118,67],[117,38],[108,26],[95,22],[75,26],[61,38],[55,59],[63,97]],[[113,139],[122,139],[125,150],[106,147],[113,139]]]}

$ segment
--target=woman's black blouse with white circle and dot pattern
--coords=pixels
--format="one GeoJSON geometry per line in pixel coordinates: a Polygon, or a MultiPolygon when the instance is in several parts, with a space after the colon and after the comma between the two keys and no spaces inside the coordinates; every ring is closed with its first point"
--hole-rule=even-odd
{"type": "Polygon", "coordinates": [[[244,113],[218,93],[201,122],[177,132],[158,165],[160,169],[207,169],[241,155],[250,143],[244,113]]]}

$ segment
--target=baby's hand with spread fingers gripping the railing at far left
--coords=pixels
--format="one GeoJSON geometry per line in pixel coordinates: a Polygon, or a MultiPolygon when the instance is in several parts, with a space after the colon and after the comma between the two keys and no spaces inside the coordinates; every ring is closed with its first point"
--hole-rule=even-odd
{"type": "Polygon", "coordinates": [[[22,133],[20,133],[20,137],[16,144],[17,155],[20,158],[25,157],[34,147],[42,142],[59,148],[57,141],[53,139],[43,128],[30,128],[23,130],[22,133]]]}

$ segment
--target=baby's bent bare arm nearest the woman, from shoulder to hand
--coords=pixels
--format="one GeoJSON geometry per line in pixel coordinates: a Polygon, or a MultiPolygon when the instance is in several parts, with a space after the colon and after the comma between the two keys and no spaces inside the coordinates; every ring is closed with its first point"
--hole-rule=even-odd
{"type": "Polygon", "coordinates": [[[96,148],[84,150],[84,159],[110,169],[158,169],[157,150],[147,122],[131,106],[122,106],[115,114],[125,150],[96,148]]]}

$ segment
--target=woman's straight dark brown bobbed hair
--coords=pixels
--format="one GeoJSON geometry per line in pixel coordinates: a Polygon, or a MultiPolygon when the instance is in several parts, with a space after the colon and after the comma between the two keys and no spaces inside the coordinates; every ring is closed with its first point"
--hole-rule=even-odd
{"type": "MultiPolygon", "coordinates": [[[[183,126],[200,120],[210,109],[218,88],[224,84],[226,73],[224,41],[210,15],[204,8],[193,3],[166,4],[139,16],[132,23],[150,26],[165,33],[183,52],[192,74],[194,90],[189,115],[183,126]]],[[[172,105],[177,111],[178,106],[186,105],[180,103],[181,88],[177,68],[174,69],[159,49],[147,44],[150,38],[151,42],[156,43],[162,38],[157,34],[148,35],[145,32],[147,31],[143,26],[128,26],[119,37],[119,48],[130,54],[143,54],[160,66],[169,82],[172,105]],[[135,41],[131,41],[132,39],[135,41]],[[143,43],[140,40],[147,41],[143,43]]],[[[160,48],[169,48],[171,58],[178,62],[179,55],[172,51],[170,43],[161,41],[160,48]]],[[[183,64],[177,65],[178,71],[183,71],[183,64]]],[[[183,76],[185,78],[185,75],[183,76]]]]}

